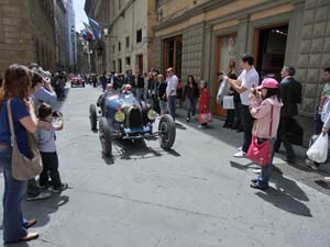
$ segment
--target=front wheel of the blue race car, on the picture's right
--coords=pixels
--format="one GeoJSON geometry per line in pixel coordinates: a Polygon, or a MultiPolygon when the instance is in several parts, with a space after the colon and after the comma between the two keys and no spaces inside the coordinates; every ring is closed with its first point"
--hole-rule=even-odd
{"type": "Polygon", "coordinates": [[[176,136],[175,121],[172,115],[163,115],[158,124],[160,143],[164,149],[170,149],[176,136]]]}

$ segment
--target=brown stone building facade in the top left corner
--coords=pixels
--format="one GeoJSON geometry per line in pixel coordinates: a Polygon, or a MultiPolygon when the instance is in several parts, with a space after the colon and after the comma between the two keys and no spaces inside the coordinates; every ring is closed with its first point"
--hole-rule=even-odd
{"type": "Polygon", "coordinates": [[[36,61],[55,69],[53,0],[0,1],[0,71],[36,61]]]}

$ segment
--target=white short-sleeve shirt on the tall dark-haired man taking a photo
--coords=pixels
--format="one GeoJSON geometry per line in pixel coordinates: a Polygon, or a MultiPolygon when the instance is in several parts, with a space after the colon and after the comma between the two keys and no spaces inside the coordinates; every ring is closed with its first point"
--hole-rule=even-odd
{"type": "Polygon", "coordinates": [[[244,69],[241,72],[241,75],[239,76],[238,80],[240,80],[242,82],[241,87],[248,89],[245,92],[242,92],[240,94],[241,103],[243,105],[250,105],[249,94],[251,92],[252,86],[254,86],[254,87],[258,86],[258,74],[254,67],[252,67],[249,71],[246,71],[246,69],[244,69]]]}

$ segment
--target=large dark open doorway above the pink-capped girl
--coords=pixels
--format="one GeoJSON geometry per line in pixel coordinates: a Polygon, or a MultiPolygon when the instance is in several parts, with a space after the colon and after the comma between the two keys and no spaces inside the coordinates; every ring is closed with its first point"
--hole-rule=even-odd
{"type": "Polygon", "coordinates": [[[272,75],[278,81],[285,61],[288,24],[268,26],[255,31],[254,56],[261,78],[272,75]]]}

